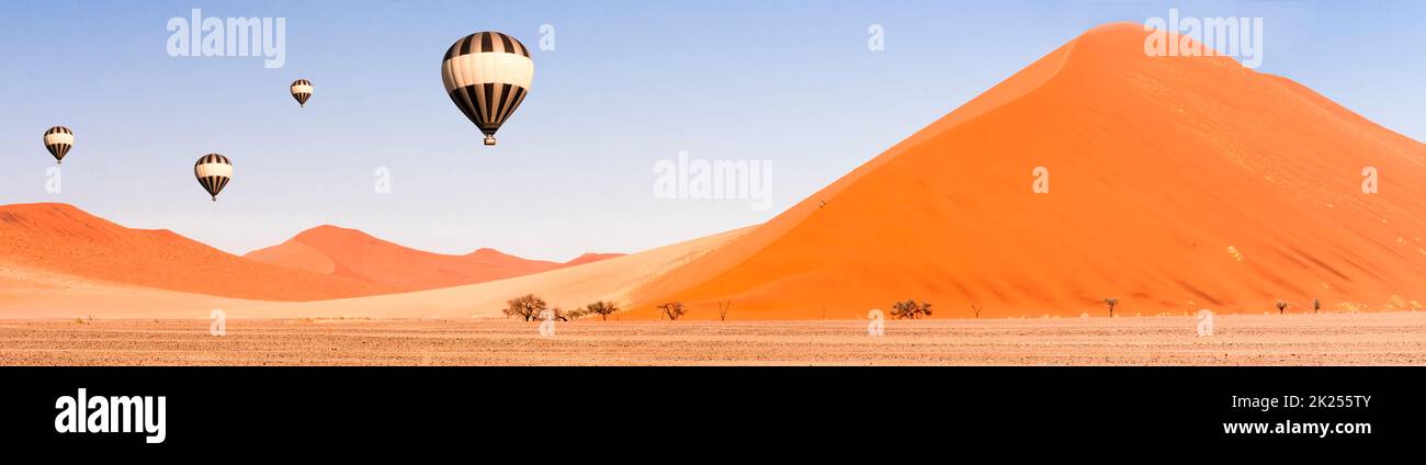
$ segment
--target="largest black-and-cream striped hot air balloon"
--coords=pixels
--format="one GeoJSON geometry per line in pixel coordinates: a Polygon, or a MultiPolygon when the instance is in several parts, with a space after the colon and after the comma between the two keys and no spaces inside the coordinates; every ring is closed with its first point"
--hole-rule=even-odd
{"type": "Polygon", "coordinates": [[[495,131],[515,113],[535,78],[535,60],[515,37],[483,31],[456,40],[441,63],[446,94],[495,145],[495,131]]]}

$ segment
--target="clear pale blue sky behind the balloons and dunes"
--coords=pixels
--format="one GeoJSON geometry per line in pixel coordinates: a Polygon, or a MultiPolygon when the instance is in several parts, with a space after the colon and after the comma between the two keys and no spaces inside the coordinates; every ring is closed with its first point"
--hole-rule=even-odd
{"type": "Polygon", "coordinates": [[[0,204],[68,203],[237,254],[318,224],[452,254],[632,252],[766,221],[1084,30],[1171,7],[1262,17],[1259,71],[1426,140],[1426,1],[7,0],[0,204]],[[285,66],[170,57],[167,23],[193,9],[284,17],[285,66]],[[479,30],[520,39],[536,67],[495,148],[439,76],[479,30]],[[317,87],[304,110],[295,78],[317,87]],[[51,194],[56,124],[77,144],[51,194]],[[656,198],[653,167],[679,151],[770,160],[771,207],[656,198]],[[193,177],[205,153],[235,165],[218,203],[193,177]]]}

